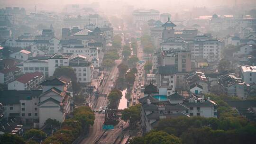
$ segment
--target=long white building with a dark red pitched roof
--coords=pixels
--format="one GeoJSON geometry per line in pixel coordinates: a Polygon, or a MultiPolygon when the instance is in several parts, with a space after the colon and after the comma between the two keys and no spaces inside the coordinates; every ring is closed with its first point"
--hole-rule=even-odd
{"type": "Polygon", "coordinates": [[[16,80],[8,83],[8,90],[32,90],[37,89],[39,84],[45,80],[41,72],[25,73],[16,80]]]}

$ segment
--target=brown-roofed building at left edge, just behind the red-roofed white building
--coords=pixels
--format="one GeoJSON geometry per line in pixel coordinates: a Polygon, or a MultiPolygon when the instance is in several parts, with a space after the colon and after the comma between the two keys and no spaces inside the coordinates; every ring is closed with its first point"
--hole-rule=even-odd
{"type": "Polygon", "coordinates": [[[6,67],[0,71],[0,83],[8,84],[15,79],[21,73],[20,68],[16,66],[6,67]]]}

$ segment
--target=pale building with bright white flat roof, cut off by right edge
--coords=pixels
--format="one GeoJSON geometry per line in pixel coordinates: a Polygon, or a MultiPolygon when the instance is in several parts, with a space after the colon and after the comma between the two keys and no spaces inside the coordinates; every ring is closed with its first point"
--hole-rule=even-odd
{"type": "Polygon", "coordinates": [[[256,83],[256,66],[241,66],[241,78],[246,84],[256,83]]]}

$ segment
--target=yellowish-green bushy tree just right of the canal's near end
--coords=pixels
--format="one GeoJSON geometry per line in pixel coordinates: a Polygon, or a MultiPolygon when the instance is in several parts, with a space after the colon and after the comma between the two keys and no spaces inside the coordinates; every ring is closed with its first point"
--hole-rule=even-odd
{"type": "Polygon", "coordinates": [[[135,106],[131,106],[129,108],[125,108],[122,110],[122,117],[121,119],[125,121],[130,121],[131,123],[137,122],[140,120],[140,114],[141,114],[141,105],[137,104],[135,106]]]}

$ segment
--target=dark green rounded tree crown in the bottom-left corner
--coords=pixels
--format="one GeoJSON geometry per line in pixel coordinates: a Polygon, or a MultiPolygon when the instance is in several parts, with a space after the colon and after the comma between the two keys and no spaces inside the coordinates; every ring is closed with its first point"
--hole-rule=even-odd
{"type": "Polygon", "coordinates": [[[25,144],[25,141],[22,137],[12,134],[3,134],[0,136],[1,144],[25,144]]]}

